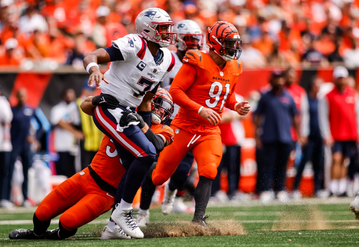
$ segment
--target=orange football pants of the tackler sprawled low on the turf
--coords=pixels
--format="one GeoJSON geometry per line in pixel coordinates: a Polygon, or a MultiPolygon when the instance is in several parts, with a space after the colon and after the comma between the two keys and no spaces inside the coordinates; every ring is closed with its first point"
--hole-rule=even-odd
{"type": "Polygon", "coordinates": [[[62,226],[72,231],[112,209],[114,202],[115,195],[100,189],[86,167],[56,186],[41,201],[35,214],[42,221],[62,214],[62,226]]]}

